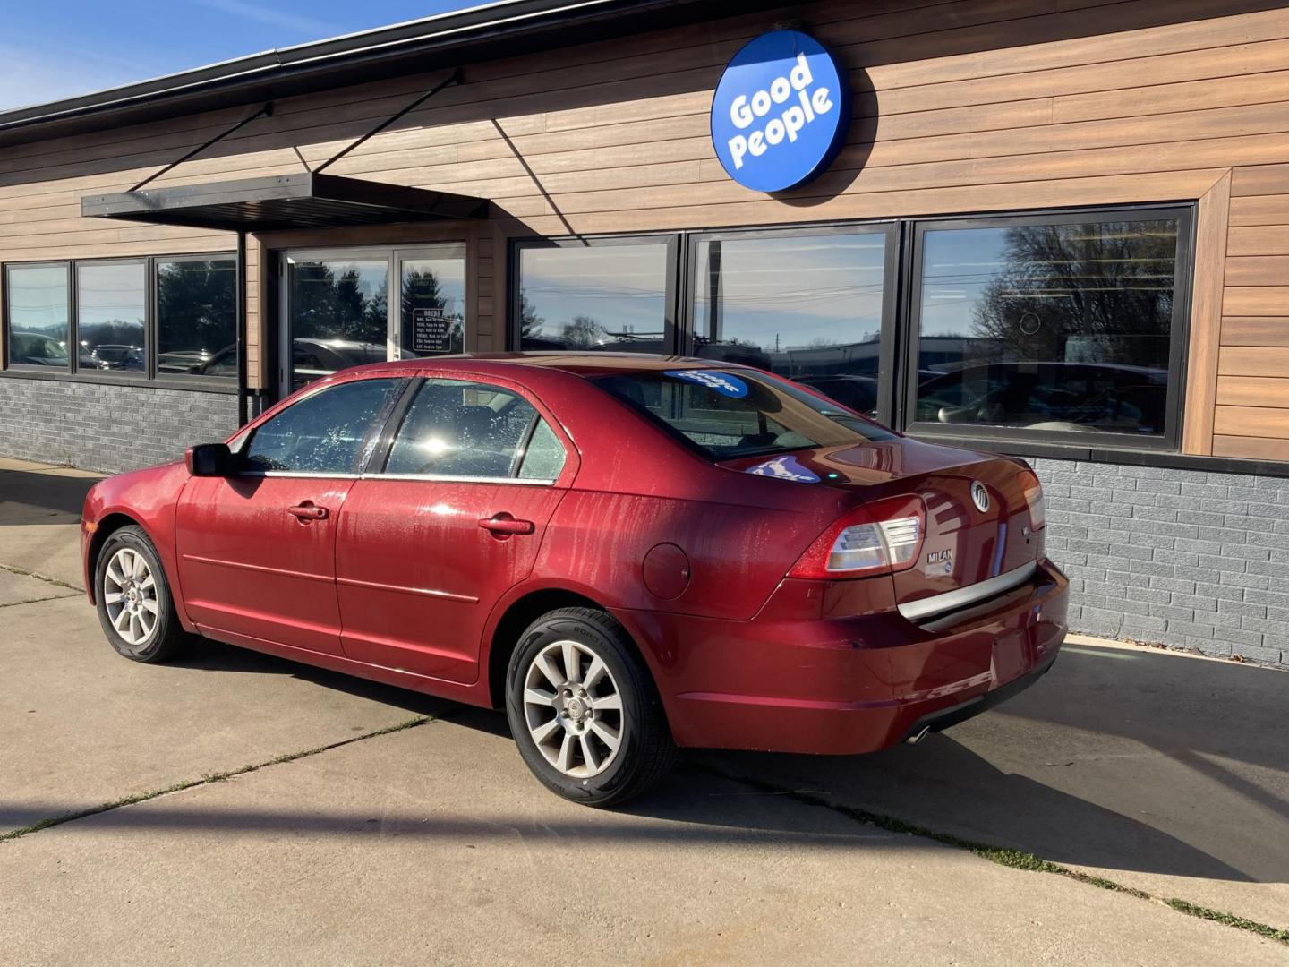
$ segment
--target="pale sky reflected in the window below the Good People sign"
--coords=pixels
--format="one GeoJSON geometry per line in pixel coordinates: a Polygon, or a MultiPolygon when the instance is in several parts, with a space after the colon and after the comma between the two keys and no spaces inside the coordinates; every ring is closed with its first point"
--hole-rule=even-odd
{"type": "Polygon", "coordinates": [[[766,351],[842,346],[882,327],[884,235],[822,235],[701,242],[695,309],[712,335],[712,284],[719,255],[719,331],[766,351]]]}

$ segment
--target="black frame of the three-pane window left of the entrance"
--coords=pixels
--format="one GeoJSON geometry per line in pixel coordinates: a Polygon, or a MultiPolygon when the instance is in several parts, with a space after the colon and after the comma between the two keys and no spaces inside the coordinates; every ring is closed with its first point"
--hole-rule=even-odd
{"type": "MultiPolygon", "coordinates": [[[[237,253],[235,251],[197,251],[197,253],[175,253],[165,255],[134,255],[134,257],[121,257],[121,258],[94,258],[94,259],[40,259],[35,262],[5,262],[0,268],[0,280],[3,280],[3,298],[0,298],[0,355],[3,355],[4,366],[0,367],[0,379],[45,379],[54,382],[71,382],[71,383],[107,383],[111,386],[150,386],[161,389],[188,389],[191,392],[202,393],[224,393],[228,396],[236,396],[237,384],[241,382],[237,378],[219,378],[219,376],[201,376],[201,375],[159,375],[157,362],[156,362],[156,346],[157,346],[157,326],[160,320],[157,317],[157,263],[160,262],[184,262],[184,260],[210,260],[210,259],[231,259],[233,262],[233,291],[236,303],[237,291],[237,253]],[[80,268],[85,266],[101,266],[101,264],[122,264],[122,263],[143,263],[144,264],[144,286],[143,286],[143,299],[146,307],[146,317],[143,324],[143,342],[144,342],[144,367],[137,375],[122,373],[120,370],[86,370],[81,369],[79,365],[79,347],[80,347],[80,300],[79,300],[79,286],[77,278],[80,268]],[[31,366],[24,364],[14,364],[9,358],[9,334],[12,333],[12,320],[9,313],[9,272],[14,268],[63,268],[67,272],[67,334],[68,334],[68,366],[66,369],[52,369],[48,366],[31,366]]],[[[237,317],[236,317],[236,304],[233,313],[233,330],[235,335],[245,339],[245,333],[237,334],[237,317]]]]}

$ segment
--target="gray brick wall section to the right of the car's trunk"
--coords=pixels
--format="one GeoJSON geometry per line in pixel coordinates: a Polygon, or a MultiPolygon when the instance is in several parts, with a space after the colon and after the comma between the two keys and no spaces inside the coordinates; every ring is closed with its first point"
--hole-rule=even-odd
{"type": "Polygon", "coordinates": [[[1289,478],[1030,463],[1072,630],[1289,665],[1289,478]]]}

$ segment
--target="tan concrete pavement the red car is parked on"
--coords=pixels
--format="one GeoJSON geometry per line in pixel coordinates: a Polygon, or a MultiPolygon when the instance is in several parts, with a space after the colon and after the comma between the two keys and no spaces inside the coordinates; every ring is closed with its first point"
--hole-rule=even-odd
{"type": "MultiPolygon", "coordinates": [[[[89,482],[0,465],[0,565],[79,584],[89,482]]],[[[656,794],[596,812],[528,776],[499,714],[209,642],[135,665],[80,594],[4,570],[0,663],[0,834],[259,766],[0,842],[5,962],[1289,962],[1159,903],[856,820],[1289,927],[1283,672],[1078,645],[916,748],[693,753],[656,794]],[[358,737],[427,714],[443,718],[358,737]]]]}

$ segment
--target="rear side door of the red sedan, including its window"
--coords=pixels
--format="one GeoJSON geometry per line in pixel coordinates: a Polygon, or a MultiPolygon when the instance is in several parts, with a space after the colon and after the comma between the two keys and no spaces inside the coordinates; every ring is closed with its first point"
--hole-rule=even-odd
{"type": "Polygon", "coordinates": [[[522,391],[473,379],[425,379],[391,423],[340,513],[344,654],[470,683],[571,477],[566,441],[522,391]]]}

